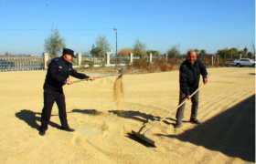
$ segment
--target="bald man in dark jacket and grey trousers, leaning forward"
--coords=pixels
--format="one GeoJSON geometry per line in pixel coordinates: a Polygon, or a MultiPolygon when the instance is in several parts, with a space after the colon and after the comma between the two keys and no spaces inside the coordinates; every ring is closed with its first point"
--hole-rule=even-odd
{"type": "MultiPolygon", "coordinates": [[[[206,67],[200,60],[197,59],[196,51],[189,51],[187,53],[187,60],[184,61],[179,67],[179,104],[181,104],[186,98],[191,98],[192,108],[190,122],[195,124],[201,124],[201,122],[197,120],[199,91],[197,91],[197,93],[193,97],[190,97],[190,95],[197,90],[200,75],[202,75],[203,77],[203,83],[207,84],[208,72],[206,67]]],[[[182,119],[184,118],[185,106],[186,103],[184,103],[180,108],[177,109],[176,124],[174,125],[174,128],[180,127],[182,119]]]]}

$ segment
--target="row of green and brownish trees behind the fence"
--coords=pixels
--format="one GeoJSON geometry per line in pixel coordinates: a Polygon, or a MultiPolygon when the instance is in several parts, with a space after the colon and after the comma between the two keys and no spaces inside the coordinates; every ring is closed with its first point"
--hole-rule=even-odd
{"type": "MultiPolygon", "coordinates": [[[[62,49],[66,47],[66,40],[64,37],[61,37],[59,35],[59,29],[51,28],[51,34],[45,39],[44,48],[46,52],[48,52],[52,56],[57,56],[57,54],[61,53],[62,49]]],[[[92,47],[91,49],[91,55],[93,56],[104,56],[106,52],[109,52],[111,49],[111,44],[109,40],[107,39],[106,35],[99,34],[98,37],[95,39],[95,47],[92,47]]],[[[197,55],[208,55],[207,51],[205,49],[198,50],[188,48],[187,51],[194,50],[197,52],[197,55]]],[[[159,56],[160,53],[157,50],[146,50],[146,44],[139,40],[139,38],[136,38],[133,42],[133,48],[123,48],[118,52],[118,56],[129,56],[129,53],[133,53],[133,56],[147,56],[149,53],[151,53],[153,56],[159,56]]],[[[177,46],[172,46],[169,48],[166,52],[168,57],[179,57],[181,56],[179,49],[177,46]]],[[[238,54],[241,54],[242,57],[254,57],[254,54],[252,52],[248,52],[246,54],[246,51],[240,50],[238,52],[238,49],[235,47],[232,48],[224,48],[217,50],[217,55],[220,55],[221,57],[227,57],[227,58],[236,58],[238,54]]]]}

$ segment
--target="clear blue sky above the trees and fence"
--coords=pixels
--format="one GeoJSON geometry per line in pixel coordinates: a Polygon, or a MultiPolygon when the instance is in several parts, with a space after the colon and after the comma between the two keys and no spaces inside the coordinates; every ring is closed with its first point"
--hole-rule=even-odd
{"type": "Polygon", "coordinates": [[[117,51],[139,39],[161,54],[173,46],[181,54],[253,52],[255,0],[0,0],[0,55],[40,56],[52,27],[75,53],[88,52],[99,35],[116,52],[116,34],[117,51]]]}

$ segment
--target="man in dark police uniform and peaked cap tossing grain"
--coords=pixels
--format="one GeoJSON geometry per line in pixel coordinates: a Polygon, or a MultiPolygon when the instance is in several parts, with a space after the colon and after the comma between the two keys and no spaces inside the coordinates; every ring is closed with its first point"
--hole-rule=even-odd
{"type": "Polygon", "coordinates": [[[91,80],[94,80],[95,77],[88,77],[74,70],[71,64],[72,57],[76,58],[74,51],[64,48],[63,55],[61,57],[54,58],[48,66],[48,72],[44,84],[44,108],[42,110],[41,127],[39,130],[39,134],[41,136],[44,136],[48,129],[48,122],[54,102],[57,103],[59,108],[61,129],[75,131],[73,128],[69,128],[65,96],[63,94],[62,86],[65,84],[73,84],[73,82],[68,79],[69,75],[80,79],[89,78],[91,80]]]}

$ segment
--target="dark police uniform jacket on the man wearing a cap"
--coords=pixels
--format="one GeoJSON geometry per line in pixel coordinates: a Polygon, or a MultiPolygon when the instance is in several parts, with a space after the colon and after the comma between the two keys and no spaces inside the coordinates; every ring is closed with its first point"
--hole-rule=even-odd
{"type": "Polygon", "coordinates": [[[74,70],[72,64],[65,60],[63,56],[54,58],[48,66],[44,93],[62,92],[62,86],[66,84],[69,75],[80,79],[89,78],[74,70]]]}

